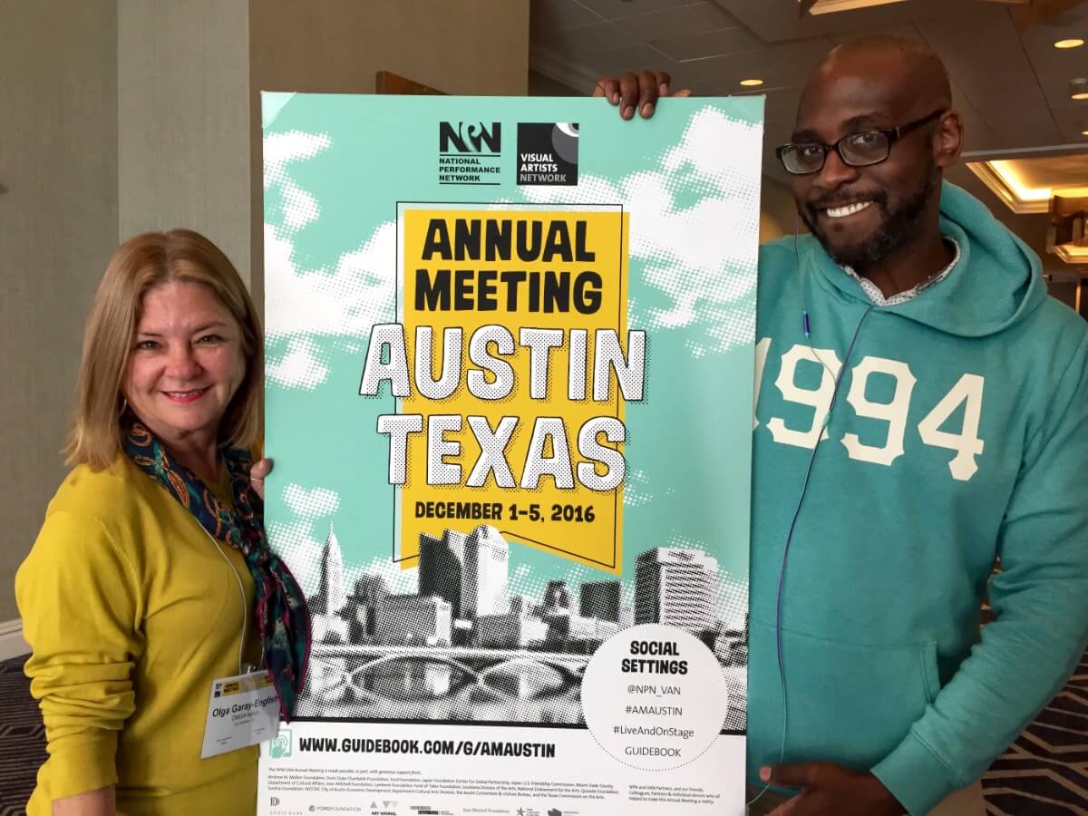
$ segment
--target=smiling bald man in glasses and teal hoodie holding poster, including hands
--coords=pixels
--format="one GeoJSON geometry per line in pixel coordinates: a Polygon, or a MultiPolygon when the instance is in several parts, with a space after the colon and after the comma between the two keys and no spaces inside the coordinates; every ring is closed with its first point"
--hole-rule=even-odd
{"type": "MultiPolygon", "coordinates": [[[[595,92],[645,118],[668,84],[595,92]]],[[[937,54],[878,37],[778,151],[812,232],[759,255],[749,778],[800,791],[779,816],[982,814],[1088,638],[1088,325],[943,184],[962,146],[937,54]]]]}

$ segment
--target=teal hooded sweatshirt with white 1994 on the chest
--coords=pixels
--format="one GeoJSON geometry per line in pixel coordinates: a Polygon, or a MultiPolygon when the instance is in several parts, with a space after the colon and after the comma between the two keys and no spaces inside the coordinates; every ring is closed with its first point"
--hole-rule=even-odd
{"type": "Polygon", "coordinates": [[[871,769],[912,815],[976,780],[1088,639],[1088,324],[950,184],[941,230],[950,275],[864,323],[811,236],[759,258],[750,779],[782,753],[780,636],[784,762],[871,769]]]}

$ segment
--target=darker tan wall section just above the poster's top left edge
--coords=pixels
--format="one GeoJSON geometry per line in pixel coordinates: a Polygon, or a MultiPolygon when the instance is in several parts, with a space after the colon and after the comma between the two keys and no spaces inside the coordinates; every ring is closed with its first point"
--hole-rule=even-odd
{"type": "MultiPolygon", "coordinates": [[[[529,0],[251,0],[249,51],[257,261],[263,232],[260,91],[372,94],[374,74],[392,71],[447,94],[524,95],[529,0]]],[[[258,298],[259,267],[255,262],[258,298]]]]}

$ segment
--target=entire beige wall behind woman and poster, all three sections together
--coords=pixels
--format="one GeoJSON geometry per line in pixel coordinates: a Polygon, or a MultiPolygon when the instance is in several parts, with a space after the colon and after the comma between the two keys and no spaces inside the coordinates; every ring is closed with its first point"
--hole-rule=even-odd
{"type": "Polygon", "coordinates": [[[2,625],[63,478],[83,325],[119,237],[198,230],[259,299],[258,92],[370,92],[385,70],[524,94],[529,1],[35,0],[0,3],[0,32],[2,625]]]}

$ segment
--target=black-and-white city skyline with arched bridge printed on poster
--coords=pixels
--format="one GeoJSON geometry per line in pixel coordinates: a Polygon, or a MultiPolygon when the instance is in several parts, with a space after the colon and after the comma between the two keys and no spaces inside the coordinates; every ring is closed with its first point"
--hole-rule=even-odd
{"type": "Polygon", "coordinates": [[[317,719],[583,722],[581,676],[621,629],[664,623],[703,641],[730,679],[729,728],[742,730],[747,621],[722,620],[717,560],[652,547],[633,581],[548,580],[535,597],[510,591],[510,544],[491,526],[420,536],[415,591],[374,572],[348,586],[330,522],[316,591],[300,716],[317,719]]]}

